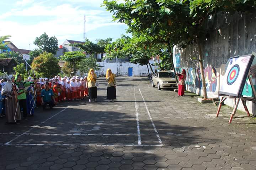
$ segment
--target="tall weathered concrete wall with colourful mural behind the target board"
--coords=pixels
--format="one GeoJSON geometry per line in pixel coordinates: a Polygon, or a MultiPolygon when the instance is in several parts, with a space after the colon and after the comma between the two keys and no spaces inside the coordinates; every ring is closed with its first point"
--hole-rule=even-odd
{"type": "MultiPolygon", "coordinates": [[[[204,55],[204,73],[208,97],[217,97],[228,59],[256,51],[256,12],[250,14],[239,12],[233,16],[219,13],[216,17],[212,17],[212,21],[207,23],[207,27],[212,32],[208,38],[202,41],[201,45],[204,55]]],[[[174,48],[176,68],[187,71],[187,89],[201,95],[202,82],[197,58],[196,45],[190,45],[181,50],[177,47],[174,48]]],[[[251,96],[250,88],[249,90],[245,88],[243,95],[251,96]]],[[[226,100],[225,104],[234,107],[234,100],[226,100]]],[[[247,102],[247,106],[250,112],[254,112],[255,108],[251,102],[247,102]]],[[[241,104],[239,109],[244,110],[241,104]]]]}

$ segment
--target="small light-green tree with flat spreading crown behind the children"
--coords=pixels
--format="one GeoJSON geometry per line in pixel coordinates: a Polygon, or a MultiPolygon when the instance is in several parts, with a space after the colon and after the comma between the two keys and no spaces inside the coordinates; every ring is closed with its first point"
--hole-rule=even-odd
{"type": "Polygon", "coordinates": [[[69,62],[72,68],[72,72],[70,73],[70,77],[75,73],[75,70],[78,69],[79,62],[85,58],[85,53],[82,51],[70,51],[65,52],[64,56],[61,57],[61,60],[65,62],[69,62]]]}

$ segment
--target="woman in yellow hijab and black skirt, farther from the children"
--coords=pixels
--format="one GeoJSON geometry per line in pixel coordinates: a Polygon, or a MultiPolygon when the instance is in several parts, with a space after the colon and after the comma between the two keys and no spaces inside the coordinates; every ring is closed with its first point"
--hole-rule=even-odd
{"type": "Polygon", "coordinates": [[[111,69],[108,68],[106,72],[106,79],[108,81],[107,87],[107,99],[113,102],[116,99],[116,75],[112,73],[111,69]]]}

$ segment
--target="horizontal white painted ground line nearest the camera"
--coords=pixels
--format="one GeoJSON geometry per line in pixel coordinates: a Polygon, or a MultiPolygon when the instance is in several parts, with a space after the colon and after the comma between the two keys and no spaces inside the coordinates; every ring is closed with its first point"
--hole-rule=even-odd
{"type": "Polygon", "coordinates": [[[10,144],[0,144],[3,145],[15,145],[15,146],[163,146],[163,145],[131,145],[131,144],[117,144],[117,145],[101,145],[101,144],[36,144],[36,143],[27,143],[27,144],[18,144],[18,143],[10,143],[10,144]]]}

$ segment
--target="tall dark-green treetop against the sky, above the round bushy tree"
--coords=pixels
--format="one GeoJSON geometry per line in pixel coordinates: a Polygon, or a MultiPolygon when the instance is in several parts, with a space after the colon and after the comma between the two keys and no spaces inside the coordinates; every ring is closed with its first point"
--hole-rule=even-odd
{"type": "Polygon", "coordinates": [[[56,54],[58,50],[58,40],[54,36],[49,37],[45,32],[34,40],[34,45],[39,47],[41,52],[56,54]]]}

